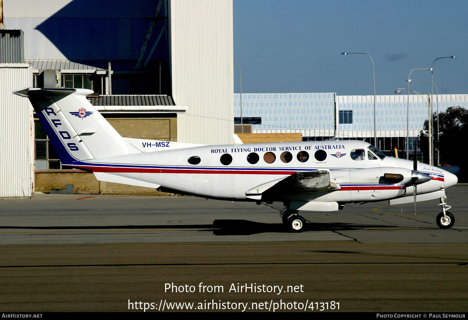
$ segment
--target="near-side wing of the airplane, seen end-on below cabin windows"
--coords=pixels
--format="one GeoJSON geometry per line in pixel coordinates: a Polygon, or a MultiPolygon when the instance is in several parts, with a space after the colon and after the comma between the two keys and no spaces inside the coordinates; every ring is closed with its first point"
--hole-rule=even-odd
{"type": "Polygon", "coordinates": [[[317,193],[339,190],[341,186],[330,182],[330,173],[325,170],[300,171],[286,178],[272,180],[256,186],[245,193],[250,199],[276,198],[284,194],[317,193]]]}

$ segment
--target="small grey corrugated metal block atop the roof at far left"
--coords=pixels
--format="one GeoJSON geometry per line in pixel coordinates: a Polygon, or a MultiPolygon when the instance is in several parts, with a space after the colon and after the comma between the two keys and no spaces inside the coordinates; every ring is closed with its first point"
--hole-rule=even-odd
{"type": "Polygon", "coordinates": [[[0,30],[0,63],[24,63],[23,31],[0,30]]]}

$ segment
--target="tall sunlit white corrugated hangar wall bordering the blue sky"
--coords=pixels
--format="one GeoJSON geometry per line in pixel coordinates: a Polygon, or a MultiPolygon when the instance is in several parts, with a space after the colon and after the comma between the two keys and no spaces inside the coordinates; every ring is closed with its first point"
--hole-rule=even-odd
{"type": "Polygon", "coordinates": [[[177,141],[228,144],[234,133],[232,0],[171,0],[172,96],[177,141]]]}

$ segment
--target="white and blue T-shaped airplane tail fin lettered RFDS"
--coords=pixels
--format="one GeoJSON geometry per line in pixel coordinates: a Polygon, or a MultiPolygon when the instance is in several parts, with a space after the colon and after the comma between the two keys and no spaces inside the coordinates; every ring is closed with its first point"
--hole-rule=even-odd
{"type": "Polygon", "coordinates": [[[25,88],[62,164],[128,154],[124,139],[86,98],[88,89],[25,88]]]}

